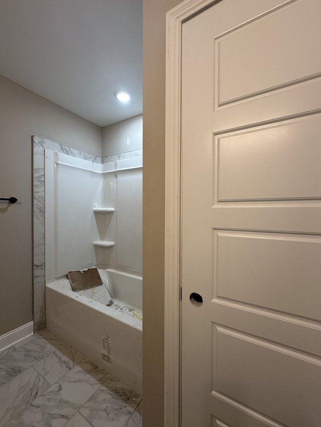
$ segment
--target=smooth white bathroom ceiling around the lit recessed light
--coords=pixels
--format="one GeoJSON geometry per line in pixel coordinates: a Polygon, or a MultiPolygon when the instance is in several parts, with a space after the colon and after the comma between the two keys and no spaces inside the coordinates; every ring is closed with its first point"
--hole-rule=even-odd
{"type": "Polygon", "coordinates": [[[142,0],[0,0],[0,75],[101,127],[140,114],[142,0]]]}

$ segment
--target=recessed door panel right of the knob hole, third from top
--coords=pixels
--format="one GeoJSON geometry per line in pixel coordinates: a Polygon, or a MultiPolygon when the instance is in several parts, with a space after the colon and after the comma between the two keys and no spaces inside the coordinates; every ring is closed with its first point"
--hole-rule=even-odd
{"type": "Polygon", "coordinates": [[[321,320],[321,237],[214,232],[217,297],[321,320]]]}

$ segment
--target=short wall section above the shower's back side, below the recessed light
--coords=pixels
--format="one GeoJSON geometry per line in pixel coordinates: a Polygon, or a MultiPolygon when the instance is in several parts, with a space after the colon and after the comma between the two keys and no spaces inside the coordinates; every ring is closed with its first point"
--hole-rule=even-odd
{"type": "Polygon", "coordinates": [[[103,157],[141,148],[142,114],[102,128],[103,157]]]}

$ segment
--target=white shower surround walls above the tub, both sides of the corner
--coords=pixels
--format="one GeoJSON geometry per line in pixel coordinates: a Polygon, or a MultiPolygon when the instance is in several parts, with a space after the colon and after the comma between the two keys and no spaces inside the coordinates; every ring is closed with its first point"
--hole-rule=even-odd
{"type": "Polygon", "coordinates": [[[98,163],[46,149],[45,171],[46,280],[92,265],[141,274],[142,158],[98,163]]]}

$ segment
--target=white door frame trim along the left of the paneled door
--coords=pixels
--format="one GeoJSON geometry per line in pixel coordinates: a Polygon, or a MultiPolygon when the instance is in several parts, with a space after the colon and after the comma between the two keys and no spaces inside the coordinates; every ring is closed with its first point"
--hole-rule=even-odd
{"type": "Polygon", "coordinates": [[[182,26],[219,0],[185,0],[166,14],[164,425],[181,425],[182,26]]]}

